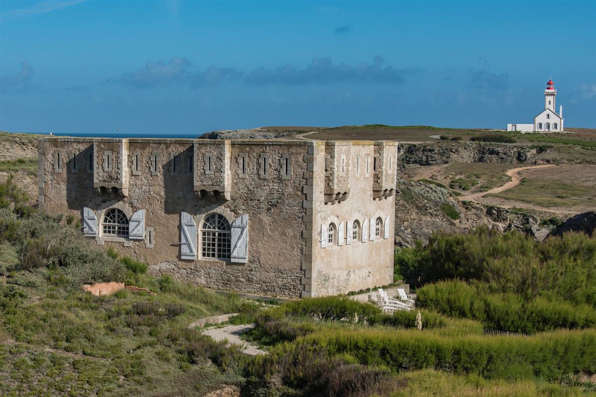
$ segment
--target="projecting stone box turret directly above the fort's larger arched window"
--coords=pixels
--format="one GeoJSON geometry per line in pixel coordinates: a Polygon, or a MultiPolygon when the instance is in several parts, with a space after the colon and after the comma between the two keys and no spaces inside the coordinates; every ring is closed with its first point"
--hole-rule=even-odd
{"type": "Polygon", "coordinates": [[[230,200],[231,142],[194,141],[194,192],[213,202],[230,200]]]}

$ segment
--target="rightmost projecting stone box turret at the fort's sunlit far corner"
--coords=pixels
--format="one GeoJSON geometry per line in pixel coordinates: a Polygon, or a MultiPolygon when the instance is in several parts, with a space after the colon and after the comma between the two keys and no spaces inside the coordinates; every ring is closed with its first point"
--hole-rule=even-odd
{"type": "Polygon", "coordinates": [[[397,154],[397,142],[374,142],[373,199],[387,198],[395,193],[397,154]]]}

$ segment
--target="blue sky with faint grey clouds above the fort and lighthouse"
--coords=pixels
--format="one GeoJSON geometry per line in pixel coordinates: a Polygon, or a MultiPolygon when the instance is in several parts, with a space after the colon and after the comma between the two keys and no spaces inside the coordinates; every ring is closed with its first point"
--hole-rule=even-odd
{"type": "Polygon", "coordinates": [[[0,129],[596,128],[596,2],[0,2],[0,129]]]}

